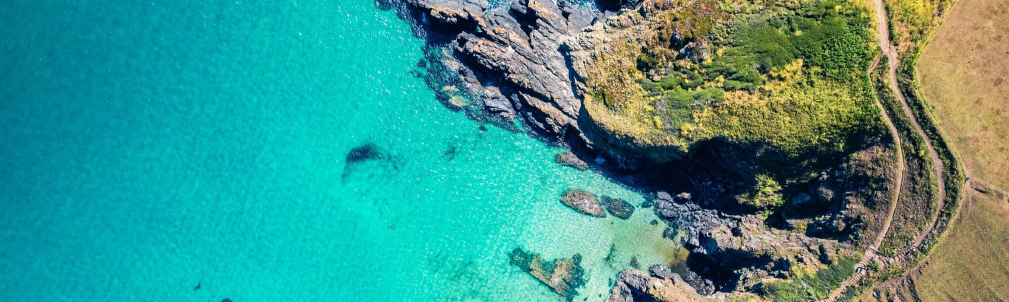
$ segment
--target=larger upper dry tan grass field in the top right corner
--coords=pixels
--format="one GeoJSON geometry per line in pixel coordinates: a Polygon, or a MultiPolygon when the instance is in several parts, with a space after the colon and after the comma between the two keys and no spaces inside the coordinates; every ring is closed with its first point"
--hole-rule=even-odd
{"type": "Polygon", "coordinates": [[[968,174],[1009,188],[1009,1],[959,0],[918,77],[968,174]]]}

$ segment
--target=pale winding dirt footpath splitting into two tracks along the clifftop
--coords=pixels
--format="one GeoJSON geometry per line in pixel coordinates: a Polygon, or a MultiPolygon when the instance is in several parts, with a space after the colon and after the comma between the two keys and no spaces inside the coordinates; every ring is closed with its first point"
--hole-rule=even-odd
{"type": "MultiPolygon", "coordinates": [[[[911,111],[911,107],[907,105],[907,99],[904,98],[904,94],[897,86],[897,66],[900,65],[900,60],[899,57],[897,56],[897,49],[893,46],[892,43],[890,43],[890,30],[889,30],[890,26],[889,26],[889,20],[887,20],[886,17],[886,6],[884,5],[883,0],[873,0],[873,3],[876,6],[876,21],[877,21],[876,35],[880,41],[880,49],[883,51],[883,54],[887,56],[889,63],[888,78],[890,82],[890,90],[893,91],[894,95],[897,97],[897,100],[900,101],[901,106],[904,108],[904,113],[910,118],[911,124],[914,125],[915,131],[917,132],[918,135],[920,135],[924,139],[925,146],[928,147],[928,153],[931,155],[932,167],[934,168],[932,172],[935,173],[937,187],[938,187],[938,202],[935,209],[932,211],[931,222],[928,224],[928,228],[923,230],[914,239],[914,242],[911,244],[911,246],[908,247],[908,250],[912,250],[920,246],[921,243],[925,240],[925,238],[928,237],[928,234],[930,234],[932,230],[935,228],[935,225],[938,223],[939,213],[945,202],[945,182],[944,182],[944,177],[942,175],[942,171],[945,170],[945,167],[943,166],[942,161],[939,159],[938,153],[935,152],[935,148],[932,147],[931,139],[928,138],[928,136],[925,134],[924,129],[921,128],[920,124],[918,124],[918,120],[914,116],[914,113],[911,111]]],[[[877,57],[876,60],[872,63],[872,66],[869,67],[869,72],[872,72],[872,70],[876,68],[876,66],[879,63],[879,59],[880,58],[877,57]]],[[[889,126],[890,132],[894,137],[894,143],[896,146],[897,180],[894,186],[895,194],[893,195],[893,200],[890,201],[890,206],[887,212],[887,218],[886,220],[883,221],[883,228],[881,229],[880,233],[876,235],[876,240],[873,241],[873,244],[869,247],[869,249],[866,250],[866,253],[862,257],[862,261],[860,261],[856,265],[858,271],[855,273],[855,275],[852,275],[852,277],[848,278],[848,280],[845,280],[838,288],[830,292],[830,295],[828,295],[826,299],[820,301],[825,301],[825,302],[836,301],[840,297],[840,295],[845,294],[846,290],[849,287],[858,284],[859,281],[861,281],[862,278],[866,276],[865,268],[867,265],[869,265],[870,262],[876,260],[877,258],[882,257],[882,255],[879,254],[879,251],[877,249],[880,247],[880,245],[883,244],[883,240],[886,239],[886,235],[890,231],[890,224],[893,221],[894,212],[897,208],[897,202],[899,200],[900,191],[904,181],[904,170],[906,169],[904,163],[904,153],[901,150],[900,133],[898,132],[897,127],[893,124],[893,120],[891,119],[891,117],[887,114],[886,109],[883,108],[882,103],[878,99],[876,100],[876,105],[880,107],[880,110],[883,113],[883,120],[886,121],[887,126],[889,126]]]]}

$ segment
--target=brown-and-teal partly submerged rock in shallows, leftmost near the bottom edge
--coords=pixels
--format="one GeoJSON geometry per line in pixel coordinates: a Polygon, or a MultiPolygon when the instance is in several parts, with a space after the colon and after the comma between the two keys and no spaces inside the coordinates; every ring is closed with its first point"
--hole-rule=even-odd
{"type": "Polygon", "coordinates": [[[581,268],[580,254],[575,254],[571,258],[545,262],[540,254],[516,248],[512,250],[512,253],[509,253],[509,259],[511,259],[512,265],[529,273],[533,278],[568,301],[571,301],[578,294],[577,289],[585,284],[585,280],[582,279],[584,270],[581,268]]]}

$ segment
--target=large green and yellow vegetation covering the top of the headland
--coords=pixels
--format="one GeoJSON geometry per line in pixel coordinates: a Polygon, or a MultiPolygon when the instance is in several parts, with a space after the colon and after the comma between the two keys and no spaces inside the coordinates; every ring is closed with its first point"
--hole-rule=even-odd
{"type": "Polygon", "coordinates": [[[593,120],[637,145],[689,151],[722,137],[793,155],[840,151],[879,130],[864,8],[821,0],[735,13],[712,3],[652,12],[645,42],[600,56],[586,83],[593,120]]]}

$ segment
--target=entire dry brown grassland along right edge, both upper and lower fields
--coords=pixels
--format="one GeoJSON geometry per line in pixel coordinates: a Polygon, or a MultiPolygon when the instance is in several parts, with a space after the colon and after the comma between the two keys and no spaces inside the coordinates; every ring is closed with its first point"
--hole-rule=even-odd
{"type": "MultiPolygon", "coordinates": [[[[968,173],[1009,188],[1009,1],[960,0],[918,77],[968,173]]],[[[1009,202],[972,189],[967,199],[914,281],[922,301],[1009,300],[1009,202]]]]}

